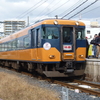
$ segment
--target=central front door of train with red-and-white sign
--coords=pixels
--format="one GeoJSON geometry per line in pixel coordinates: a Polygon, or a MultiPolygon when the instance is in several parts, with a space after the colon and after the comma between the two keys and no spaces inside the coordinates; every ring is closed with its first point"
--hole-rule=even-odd
{"type": "Polygon", "coordinates": [[[62,60],[75,60],[75,36],[73,27],[62,27],[62,60]]]}

